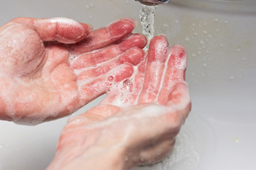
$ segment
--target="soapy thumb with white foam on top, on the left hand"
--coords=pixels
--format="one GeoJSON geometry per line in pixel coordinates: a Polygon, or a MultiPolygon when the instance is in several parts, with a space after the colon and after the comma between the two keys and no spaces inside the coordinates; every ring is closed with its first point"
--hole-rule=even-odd
{"type": "Polygon", "coordinates": [[[87,37],[92,31],[92,26],[70,18],[27,19],[33,21],[33,26],[43,41],[75,43],[87,37]]]}

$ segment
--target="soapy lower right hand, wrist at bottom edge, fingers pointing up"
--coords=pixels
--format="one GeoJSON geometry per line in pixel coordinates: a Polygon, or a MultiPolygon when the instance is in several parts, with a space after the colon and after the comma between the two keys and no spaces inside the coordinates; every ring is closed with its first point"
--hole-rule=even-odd
{"type": "Polygon", "coordinates": [[[48,169],[130,169],[164,158],[191,110],[186,63],[181,45],[153,38],[131,78],[70,119],[48,169]]]}

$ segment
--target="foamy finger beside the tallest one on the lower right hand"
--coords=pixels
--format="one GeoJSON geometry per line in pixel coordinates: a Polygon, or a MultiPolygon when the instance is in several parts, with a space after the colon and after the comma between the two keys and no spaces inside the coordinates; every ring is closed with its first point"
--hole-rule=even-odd
{"type": "Polygon", "coordinates": [[[174,45],[170,50],[169,61],[164,75],[164,81],[159,93],[159,103],[165,105],[169,100],[171,90],[182,81],[185,81],[187,65],[186,50],[181,45],[174,45]]]}

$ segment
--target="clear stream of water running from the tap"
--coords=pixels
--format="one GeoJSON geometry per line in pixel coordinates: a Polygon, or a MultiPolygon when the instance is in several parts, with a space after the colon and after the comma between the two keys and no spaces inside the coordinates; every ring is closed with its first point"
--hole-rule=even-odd
{"type": "Polygon", "coordinates": [[[142,23],[142,33],[148,38],[148,42],[154,37],[154,12],[156,6],[146,6],[142,4],[139,18],[142,23]]]}

